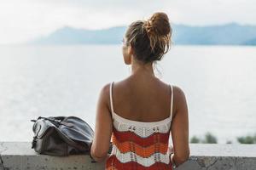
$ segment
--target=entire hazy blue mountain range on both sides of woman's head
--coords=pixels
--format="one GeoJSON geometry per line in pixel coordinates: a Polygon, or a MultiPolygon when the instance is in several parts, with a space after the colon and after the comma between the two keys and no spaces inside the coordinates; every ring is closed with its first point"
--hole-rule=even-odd
{"type": "MultiPolygon", "coordinates": [[[[65,26],[32,44],[117,44],[124,37],[127,26],[102,30],[86,30],[65,26]]],[[[230,23],[221,26],[172,25],[174,44],[188,45],[255,45],[256,26],[230,23]]]]}

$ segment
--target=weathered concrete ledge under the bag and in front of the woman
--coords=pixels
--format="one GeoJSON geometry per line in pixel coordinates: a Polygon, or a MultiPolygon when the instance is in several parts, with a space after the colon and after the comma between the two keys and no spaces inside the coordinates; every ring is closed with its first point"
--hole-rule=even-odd
{"type": "MultiPolygon", "coordinates": [[[[190,144],[191,156],[177,170],[256,169],[256,144],[190,144]]],[[[89,156],[44,156],[28,142],[0,142],[0,170],[104,169],[105,162],[91,163],[89,156]]]]}

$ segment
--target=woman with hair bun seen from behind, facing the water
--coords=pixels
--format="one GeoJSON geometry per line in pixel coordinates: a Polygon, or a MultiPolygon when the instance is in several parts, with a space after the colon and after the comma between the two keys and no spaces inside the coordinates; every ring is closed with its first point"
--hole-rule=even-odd
{"type": "Polygon", "coordinates": [[[102,88],[90,150],[95,161],[106,161],[106,169],[172,169],[189,158],[183,90],[154,76],[153,64],[167,53],[171,36],[165,13],[137,20],[125,33],[123,57],[131,76],[102,88]]]}

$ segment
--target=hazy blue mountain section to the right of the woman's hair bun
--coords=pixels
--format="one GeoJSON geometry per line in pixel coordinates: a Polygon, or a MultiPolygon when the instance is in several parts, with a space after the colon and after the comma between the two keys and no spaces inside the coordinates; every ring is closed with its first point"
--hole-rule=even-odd
{"type": "Polygon", "coordinates": [[[256,26],[230,23],[222,26],[173,26],[176,44],[245,45],[256,38],[256,26]]]}

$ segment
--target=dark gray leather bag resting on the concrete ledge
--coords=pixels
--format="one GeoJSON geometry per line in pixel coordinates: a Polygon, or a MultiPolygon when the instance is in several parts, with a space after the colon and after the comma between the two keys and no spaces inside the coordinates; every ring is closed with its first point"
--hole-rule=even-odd
{"type": "Polygon", "coordinates": [[[76,116],[39,116],[32,130],[32,148],[39,154],[69,156],[90,154],[94,132],[76,116]]]}

